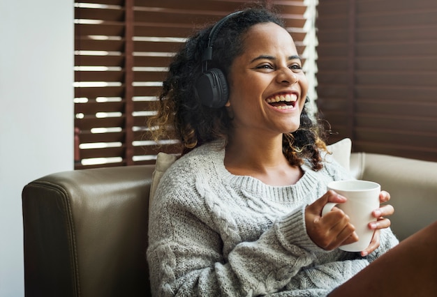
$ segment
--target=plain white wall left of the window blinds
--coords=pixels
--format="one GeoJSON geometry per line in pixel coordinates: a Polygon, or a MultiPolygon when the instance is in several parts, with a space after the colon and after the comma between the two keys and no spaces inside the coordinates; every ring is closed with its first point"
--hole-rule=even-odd
{"type": "Polygon", "coordinates": [[[73,17],[73,1],[0,0],[1,297],[24,296],[22,188],[73,169],[73,17]]]}

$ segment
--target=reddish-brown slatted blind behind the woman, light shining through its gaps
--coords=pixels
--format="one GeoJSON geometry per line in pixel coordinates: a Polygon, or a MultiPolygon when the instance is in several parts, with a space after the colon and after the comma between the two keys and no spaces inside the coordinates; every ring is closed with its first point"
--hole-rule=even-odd
{"type": "MultiPolygon", "coordinates": [[[[151,142],[145,126],[170,59],[195,29],[247,2],[75,0],[75,168],[151,164],[158,151],[179,153],[175,141],[151,142]]],[[[313,58],[305,39],[316,0],[265,2],[313,58]]]]}

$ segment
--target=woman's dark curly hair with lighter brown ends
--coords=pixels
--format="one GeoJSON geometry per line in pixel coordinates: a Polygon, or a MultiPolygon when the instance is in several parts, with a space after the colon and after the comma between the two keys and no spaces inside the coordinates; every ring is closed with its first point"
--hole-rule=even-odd
{"type": "MultiPolygon", "coordinates": [[[[244,51],[245,33],[251,26],[266,22],[284,27],[281,18],[266,8],[246,8],[226,20],[214,40],[208,68],[219,68],[228,77],[232,62],[244,51]]],[[[226,144],[232,129],[232,119],[225,107],[207,107],[195,95],[196,80],[202,75],[202,53],[211,29],[209,26],[195,33],[177,53],[163,82],[158,113],[148,121],[155,141],[176,136],[182,154],[216,139],[224,139],[226,144]]],[[[319,151],[326,149],[324,137],[323,125],[314,123],[304,107],[299,129],[283,135],[283,153],[291,165],[302,165],[307,158],[314,170],[321,169],[319,151]]]]}

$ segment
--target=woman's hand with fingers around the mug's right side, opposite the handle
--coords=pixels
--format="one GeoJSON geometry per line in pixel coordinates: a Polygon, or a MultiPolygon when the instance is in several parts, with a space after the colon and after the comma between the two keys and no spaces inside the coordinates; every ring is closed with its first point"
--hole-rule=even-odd
{"type": "MultiPolygon", "coordinates": [[[[379,195],[379,201],[380,203],[384,203],[390,200],[390,194],[388,192],[385,191],[381,191],[380,195],[379,195]]],[[[372,230],[375,230],[375,232],[373,233],[373,237],[372,240],[370,242],[369,247],[366,248],[366,250],[363,250],[361,252],[362,257],[370,254],[371,252],[373,252],[374,250],[376,250],[379,245],[380,245],[380,229],[385,229],[390,227],[390,224],[392,224],[390,222],[389,219],[384,218],[387,215],[392,215],[394,213],[394,208],[393,206],[391,206],[390,204],[386,204],[383,206],[380,206],[380,208],[374,210],[372,212],[372,215],[374,218],[376,218],[376,222],[370,222],[369,223],[369,228],[372,230]]]]}

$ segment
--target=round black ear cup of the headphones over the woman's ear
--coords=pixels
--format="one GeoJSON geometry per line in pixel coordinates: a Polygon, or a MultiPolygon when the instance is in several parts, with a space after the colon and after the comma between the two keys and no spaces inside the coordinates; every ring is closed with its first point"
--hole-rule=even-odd
{"type": "Polygon", "coordinates": [[[200,75],[195,90],[202,105],[207,107],[220,108],[228,102],[228,82],[223,71],[218,68],[209,69],[200,75]]]}

